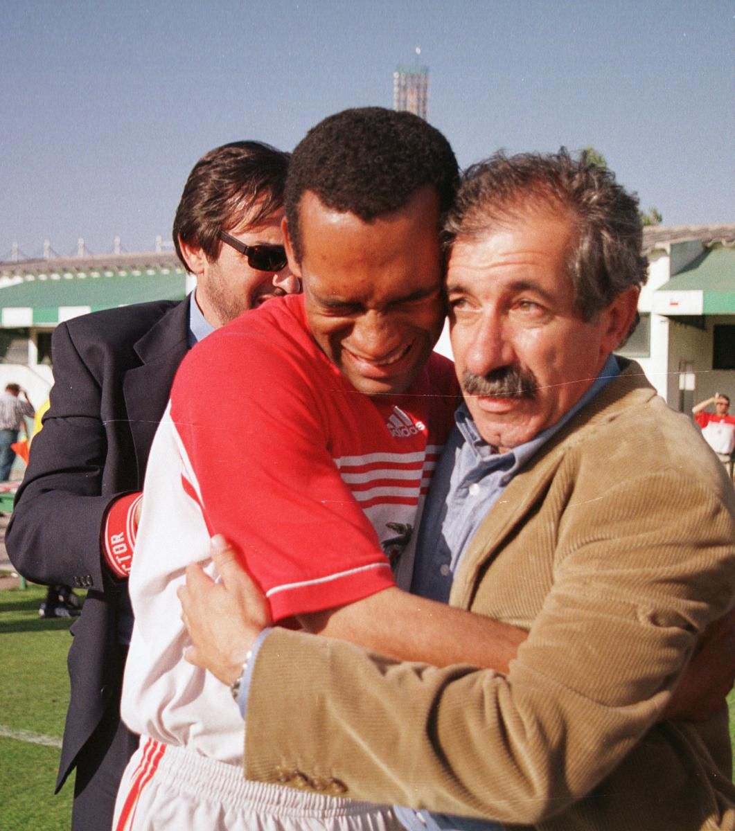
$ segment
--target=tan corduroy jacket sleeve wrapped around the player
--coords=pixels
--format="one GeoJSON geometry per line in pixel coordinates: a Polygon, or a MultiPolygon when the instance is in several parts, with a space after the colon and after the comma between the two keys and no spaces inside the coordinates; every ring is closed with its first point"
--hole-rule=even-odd
{"type": "Polygon", "coordinates": [[[249,691],[245,775],[314,790],[336,779],[353,799],[510,824],[589,794],[644,740],[735,592],[732,504],[671,471],[605,499],[594,523],[587,504],[565,511],[564,555],[508,676],[271,632],[249,691]],[[639,511],[650,489],[665,492],[666,516],[639,511]]]}

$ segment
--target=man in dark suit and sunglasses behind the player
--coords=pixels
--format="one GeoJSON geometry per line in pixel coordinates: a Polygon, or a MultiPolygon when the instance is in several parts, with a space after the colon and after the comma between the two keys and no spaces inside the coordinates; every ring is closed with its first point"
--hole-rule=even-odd
{"type": "Polygon", "coordinates": [[[293,292],[280,222],[289,155],[253,141],[211,150],[174,222],[197,278],[183,302],[110,309],[54,332],[51,408],[18,490],[7,550],[37,583],[88,593],[72,627],[71,701],[57,790],[76,768],[72,829],[110,829],[138,737],[121,723],[132,630],[126,575],[150,443],[187,350],[268,297],[293,292]]]}

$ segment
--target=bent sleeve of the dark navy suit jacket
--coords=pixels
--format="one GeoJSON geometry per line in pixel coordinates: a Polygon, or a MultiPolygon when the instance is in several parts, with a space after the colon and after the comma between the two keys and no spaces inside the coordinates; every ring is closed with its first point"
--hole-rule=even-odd
{"type": "Polygon", "coordinates": [[[5,544],[24,577],[101,589],[100,535],[107,438],[101,416],[102,371],[82,359],[66,324],[53,335],[54,386],[43,429],[31,446],[5,544]]]}

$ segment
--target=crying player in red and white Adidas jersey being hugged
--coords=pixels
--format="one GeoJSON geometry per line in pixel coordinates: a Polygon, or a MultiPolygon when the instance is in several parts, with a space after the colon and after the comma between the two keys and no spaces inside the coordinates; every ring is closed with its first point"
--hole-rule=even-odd
{"type": "Polygon", "coordinates": [[[451,147],[409,113],[345,111],[310,131],[289,171],[284,243],[303,297],[265,303],[187,356],[151,450],[122,698],[142,740],[116,829],[401,827],[391,809],[330,799],[338,780],[326,777],[321,797],[242,779],[237,685],[182,656],[176,592],[190,563],[215,575],[215,530],[242,552],[275,622],[435,664],[458,661],[463,641],[464,660],[499,668],[523,637],[402,592],[391,568],[411,573],[456,404],[451,363],[432,354],[451,147]]]}

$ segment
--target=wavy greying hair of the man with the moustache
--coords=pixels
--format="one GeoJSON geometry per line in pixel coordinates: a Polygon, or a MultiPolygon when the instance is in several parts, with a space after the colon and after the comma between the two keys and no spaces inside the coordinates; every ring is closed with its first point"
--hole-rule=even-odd
{"type": "Polygon", "coordinates": [[[564,147],[549,154],[508,156],[501,151],[472,165],[446,217],[444,242],[451,248],[454,238],[485,234],[529,209],[551,209],[575,226],[567,268],[583,320],[591,320],[626,289],[646,282],[638,197],[585,151],[579,159],[564,147]]]}

